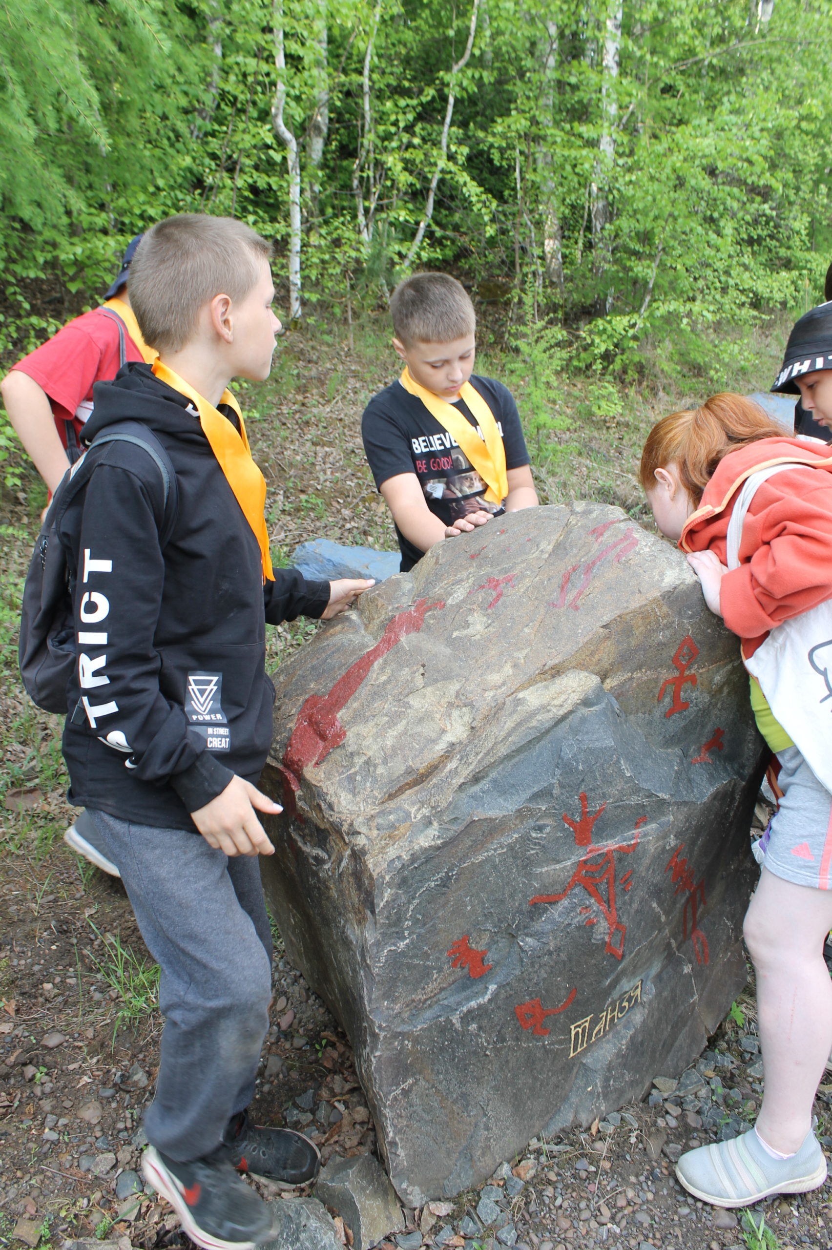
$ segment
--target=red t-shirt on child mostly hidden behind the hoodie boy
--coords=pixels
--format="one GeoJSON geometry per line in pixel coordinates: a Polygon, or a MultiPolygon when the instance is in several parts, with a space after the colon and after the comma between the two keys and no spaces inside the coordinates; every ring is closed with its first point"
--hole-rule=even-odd
{"type": "MultiPolygon", "coordinates": [[[[142,360],[141,351],[125,331],[127,360],[142,360]]],[[[20,369],[41,386],[52,405],[55,425],[66,446],[66,421],[76,438],[92,411],[92,385],[110,381],[119,372],[119,325],[97,309],[76,316],[36,348],[12,369],[20,369]]]]}

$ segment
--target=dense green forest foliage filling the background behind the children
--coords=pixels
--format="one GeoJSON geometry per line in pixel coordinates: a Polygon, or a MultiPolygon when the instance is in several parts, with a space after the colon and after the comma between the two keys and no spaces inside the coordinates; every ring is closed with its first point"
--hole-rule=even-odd
{"type": "MultiPolygon", "coordinates": [[[[54,329],[32,284],[56,274],[95,299],[125,241],[170,212],[234,214],[287,248],[275,11],[5,0],[0,260],[16,312],[0,350],[54,329]]],[[[826,6],[777,0],[763,21],[747,0],[627,0],[612,60],[611,11],[482,0],[455,71],[470,0],[282,0],[306,315],[324,334],[372,314],[407,266],[500,285],[541,446],[567,369],[717,386],[757,368],[755,328],[820,300],[832,250],[826,6]]],[[[14,475],[7,440],[0,428],[14,475]]]]}

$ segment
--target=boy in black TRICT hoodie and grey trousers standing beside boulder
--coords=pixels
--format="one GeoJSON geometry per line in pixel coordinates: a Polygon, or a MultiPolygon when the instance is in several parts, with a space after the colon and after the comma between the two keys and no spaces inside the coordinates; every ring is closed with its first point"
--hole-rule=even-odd
{"type": "Polygon", "coordinates": [[[265,624],[334,616],[372,585],[271,568],[265,481],[226,390],[235,375],[269,376],[280,329],[270,256],[229,218],[182,215],[145,235],[130,294],[159,360],[97,384],[85,434],[145,422],[175,471],[175,516],[152,456],[116,441],[89,452],[95,469],[61,532],[79,652],[70,799],[161,965],[142,1170],[206,1250],[252,1250],[272,1234],[240,1171],[300,1184],[319,1168],[311,1141],[246,1112],[271,995],[257,855],[272,846],[257,811],[281,810],[255,788],[274,702],[265,624]]]}

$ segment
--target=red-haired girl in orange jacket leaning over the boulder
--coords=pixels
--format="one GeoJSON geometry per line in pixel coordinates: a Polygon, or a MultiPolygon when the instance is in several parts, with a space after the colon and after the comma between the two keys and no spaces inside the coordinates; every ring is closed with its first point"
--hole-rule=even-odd
{"type": "MultiPolygon", "coordinates": [[[[826,424],[826,421],[825,421],[826,424]]],[[[641,481],[711,611],[741,639],[780,808],[745,920],[757,974],[765,1095],[755,1129],[700,1146],[676,1174],[717,1206],[826,1179],[812,1105],[832,1048],[832,456],[741,395],[713,395],[650,432],[641,481]]]]}

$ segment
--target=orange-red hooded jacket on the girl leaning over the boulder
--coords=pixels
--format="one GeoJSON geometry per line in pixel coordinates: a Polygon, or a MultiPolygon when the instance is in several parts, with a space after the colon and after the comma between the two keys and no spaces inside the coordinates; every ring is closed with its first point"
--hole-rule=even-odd
{"type": "Polygon", "coordinates": [[[713,551],[726,564],[737,491],[752,472],[786,460],[806,468],[786,469],[762,482],[742,528],[740,568],[722,579],[722,615],[740,635],[746,659],[781,621],[832,598],[832,456],[790,438],[761,439],[731,451],[678,541],[682,551],[713,551]]]}

